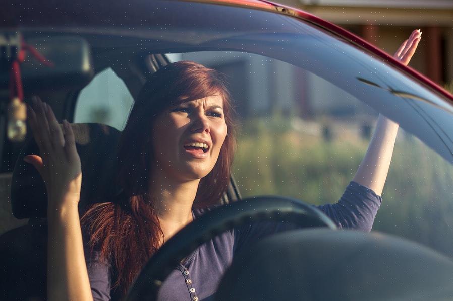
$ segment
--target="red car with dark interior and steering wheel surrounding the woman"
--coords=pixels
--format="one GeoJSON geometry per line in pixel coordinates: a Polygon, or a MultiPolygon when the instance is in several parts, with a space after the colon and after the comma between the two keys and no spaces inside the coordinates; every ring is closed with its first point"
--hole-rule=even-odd
{"type": "Polygon", "coordinates": [[[453,297],[450,92],[341,27],[264,0],[20,3],[0,13],[0,298],[46,298],[47,196],[22,160],[38,152],[23,102],[40,95],[72,123],[82,213],[120,193],[111,176],[134,98],[178,60],[226,74],[238,113],[234,179],[224,205],[162,246],[127,299],[155,299],[171,267],[214,235],[269,220],[303,229],[238,255],[215,299],[453,297]],[[373,231],[337,231],[311,204],[341,197],[379,114],[401,129],[373,231]]]}

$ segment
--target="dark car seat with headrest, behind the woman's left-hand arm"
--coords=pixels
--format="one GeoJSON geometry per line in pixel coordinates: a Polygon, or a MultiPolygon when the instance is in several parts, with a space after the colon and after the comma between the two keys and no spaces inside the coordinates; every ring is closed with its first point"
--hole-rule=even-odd
{"type": "MultiPolygon", "coordinates": [[[[121,189],[112,187],[116,168],[116,150],[121,132],[97,123],[71,124],[82,163],[82,188],[79,213],[96,200],[114,199],[121,189]],[[102,172],[99,172],[102,171],[102,172]],[[102,196],[102,198],[101,198],[102,196]]],[[[29,218],[27,225],[0,236],[0,299],[46,299],[47,272],[47,193],[38,171],[23,161],[24,156],[39,154],[29,137],[21,150],[11,181],[11,206],[16,218],[29,218]]],[[[228,203],[240,199],[231,178],[220,200],[228,203]]]]}

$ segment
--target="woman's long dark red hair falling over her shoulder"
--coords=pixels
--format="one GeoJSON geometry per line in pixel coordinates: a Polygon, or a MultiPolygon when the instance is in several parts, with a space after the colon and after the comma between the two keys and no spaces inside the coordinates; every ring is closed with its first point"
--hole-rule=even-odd
{"type": "Polygon", "coordinates": [[[118,200],[92,205],[82,216],[91,250],[112,264],[115,289],[124,296],[142,266],[157,251],[162,230],[148,193],[154,155],[150,139],[155,118],[180,103],[220,94],[227,127],[225,141],[212,171],[201,179],[196,207],[217,204],[225,192],[235,149],[235,127],[230,93],[224,77],[203,65],[180,61],[156,71],[140,91],[120,138],[118,200]]]}

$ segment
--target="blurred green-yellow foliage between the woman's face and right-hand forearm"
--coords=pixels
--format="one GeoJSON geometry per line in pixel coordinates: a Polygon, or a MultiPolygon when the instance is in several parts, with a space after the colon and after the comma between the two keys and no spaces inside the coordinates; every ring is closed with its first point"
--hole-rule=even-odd
{"type": "Polygon", "coordinates": [[[291,130],[289,122],[281,120],[250,121],[241,132],[234,174],[244,196],[278,194],[314,204],[335,202],[366,149],[363,141],[326,142],[291,130]]]}

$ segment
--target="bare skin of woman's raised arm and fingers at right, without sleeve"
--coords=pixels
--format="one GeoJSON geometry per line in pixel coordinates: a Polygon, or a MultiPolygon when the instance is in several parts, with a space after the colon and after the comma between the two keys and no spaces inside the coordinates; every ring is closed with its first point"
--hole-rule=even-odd
{"type": "MultiPolygon", "coordinates": [[[[417,49],[421,34],[420,30],[414,30],[393,57],[407,65],[417,49]]],[[[370,145],[353,179],[377,195],[381,195],[384,188],[398,127],[397,123],[379,114],[370,145]]]]}

